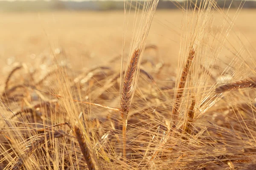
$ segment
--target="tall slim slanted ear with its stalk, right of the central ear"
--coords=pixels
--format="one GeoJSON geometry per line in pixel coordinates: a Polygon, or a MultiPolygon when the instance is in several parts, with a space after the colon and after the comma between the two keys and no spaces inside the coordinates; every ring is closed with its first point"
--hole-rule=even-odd
{"type": "MultiPolygon", "coordinates": [[[[192,60],[195,58],[195,50],[193,48],[190,48],[188,58],[186,60],[186,64],[183,68],[183,71],[181,73],[180,82],[178,84],[178,91],[175,96],[174,100],[174,106],[172,108],[172,127],[166,134],[166,136],[163,138],[162,142],[160,143],[160,147],[163,147],[163,145],[167,142],[167,139],[171,136],[172,131],[176,128],[176,119],[177,119],[177,113],[180,108],[180,99],[182,98],[183,91],[186,85],[186,79],[189,74],[189,69],[192,65],[192,60]]],[[[151,157],[151,160],[154,159],[154,157],[157,155],[158,151],[156,151],[153,156],[151,157]]]]}

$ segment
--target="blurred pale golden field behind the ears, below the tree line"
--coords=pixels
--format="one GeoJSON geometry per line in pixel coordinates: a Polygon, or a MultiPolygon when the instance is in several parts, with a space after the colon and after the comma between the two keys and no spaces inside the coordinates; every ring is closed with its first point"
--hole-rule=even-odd
{"type": "MultiPolygon", "coordinates": [[[[236,12],[230,10],[229,17],[233,18],[236,12]]],[[[182,17],[179,9],[156,12],[147,44],[157,45],[160,59],[177,60],[182,17]]],[[[221,31],[219,20],[222,17],[216,12],[213,32],[221,31]]],[[[230,48],[244,44],[255,55],[255,17],[256,10],[241,10],[227,42],[232,42],[230,48]],[[234,41],[237,37],[240,42],[234,41]]],[[[132,15],[130,20],[131,23],[132,15]]],[[[122,52],[123,23],[123,11],[0,12],[0,63],[29,62],[40,54],[61,50],[76,68],[104,64],[122,52]]],[[[127,43],[130,40],[131,34],[128,34],[127,43]]],[[[222,55],[233,58],[229,49],[226,52],[224,49],[222,55]]]]}

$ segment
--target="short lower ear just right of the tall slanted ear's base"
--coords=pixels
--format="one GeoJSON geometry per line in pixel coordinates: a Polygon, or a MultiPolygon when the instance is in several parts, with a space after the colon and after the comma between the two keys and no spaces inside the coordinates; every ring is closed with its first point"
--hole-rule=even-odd
{"type": "MultiPolygon", "coordinates": [[[[195,118],[195,113],[194,113],[194,108],[195,108],[195,97],[192,96],[192,101],[191,101],[191,105],[189,107],[189,111],[187,114],[187,120],[185,125],[183,126],[183,134],[191,134],[192,132],[192,122],[195,118]]],[[[186,139],[183,137],[183,139],[186,139]]]]}

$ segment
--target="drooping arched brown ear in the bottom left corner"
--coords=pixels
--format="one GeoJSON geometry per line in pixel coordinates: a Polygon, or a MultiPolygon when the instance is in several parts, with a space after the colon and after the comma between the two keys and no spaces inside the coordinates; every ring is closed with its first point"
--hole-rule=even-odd
{"type": "Polygon", "coordinates": [[[41,147],[42,144],[49,141],[51,137],[61,138],[64,136],[68,136],[67,133],[65,133],[64,131],[54,130],[53,132],[44,133],[42,136],[38,137],[38,139],[35,139],[34,141],[30,142],[29,145],[26,146],[24,153],[19,158],[17,158],[16,164],[12,167],[12,170],[20,170],[20,168],[23,167],[23,164],[26,161],[26,159],[28,159],[29,156],[35,152],[35,150],[41,147]]]}

